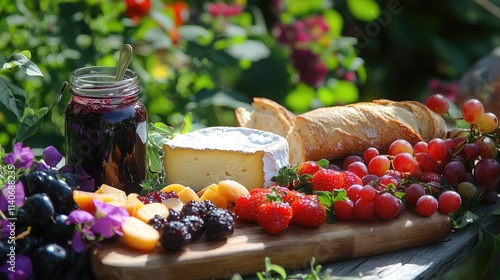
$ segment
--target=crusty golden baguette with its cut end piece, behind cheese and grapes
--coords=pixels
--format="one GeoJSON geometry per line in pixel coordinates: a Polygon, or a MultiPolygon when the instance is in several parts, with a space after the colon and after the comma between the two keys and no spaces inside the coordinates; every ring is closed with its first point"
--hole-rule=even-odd
{"type": "Polygon", "coordinates": [[[341,160],[361,154],[368,147],[385,153],[397,139],[415,144],[446,135],[444,119],[416,101],[374,100],[319,108],[295,117],[290,117],[291,113],[276,102],[264,103],[259,99],[258,106],[255,103],[251,113],[236,111],[236,115],[240,115],[239,125],[285,134],[291,164],[323,158],[341,160]],[[282,119],[287,117],[283,112],[289,113],[288,120],[293,119],[286,133],[282,119]],[[242,114],[246,114],[246,118],[242,114]]]}

